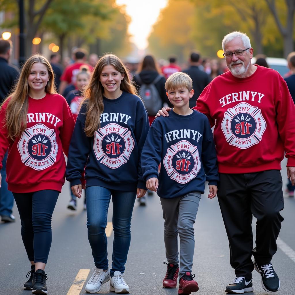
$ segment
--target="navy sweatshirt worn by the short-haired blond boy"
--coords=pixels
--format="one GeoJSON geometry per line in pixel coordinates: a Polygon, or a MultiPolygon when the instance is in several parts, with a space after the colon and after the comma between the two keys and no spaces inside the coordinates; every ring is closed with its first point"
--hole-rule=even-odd
{"type": "Polygon", "coordinates": [[[195,110],[187,116],[172,110],[169,117],[156,118],[142,150],[141,164],[145,180],[159,179],[157,193],[161,198],[204,193],[206,180],[217,185],[216,150],[208,118],[195,110]]]}

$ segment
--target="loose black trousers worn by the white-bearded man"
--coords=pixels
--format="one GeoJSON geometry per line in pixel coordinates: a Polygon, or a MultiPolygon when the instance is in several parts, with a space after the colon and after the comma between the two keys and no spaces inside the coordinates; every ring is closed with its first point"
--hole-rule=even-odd
{"type": "Polygon", "coordinates": [[[252,278],[251,255],[258,265],[271,261],[284,220],[282,176],[279,170],[256,173],[219,173],[218,201],[230,244],[230,265],[237,277],[252,278]],[[252,217],[256,222],[253,251],[252,217]]]}

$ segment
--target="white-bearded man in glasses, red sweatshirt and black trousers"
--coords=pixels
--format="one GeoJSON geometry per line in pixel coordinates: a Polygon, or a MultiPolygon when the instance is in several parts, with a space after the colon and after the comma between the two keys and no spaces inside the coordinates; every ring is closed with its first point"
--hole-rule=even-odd
{"type": "MultiPolygon", "coordinates": [[[[280,280],[271,259],[284,207],[280,170],[285,149],[287,174],[294,185],[295,106],[278,72],[251,64],[253,48],[247,35],[226,35],[222,48],[230,71],[209,83],[194,108],[207,115],[211,127],[215,125],[218,201],[236,275],[225,291],[253,291],[255,268],[263,289],[275,292],[280,280]],[[253,216],[257,219],[254,249],[253,216]]],[[[168,113],[162,109],[160,114],[168,113]]]]}

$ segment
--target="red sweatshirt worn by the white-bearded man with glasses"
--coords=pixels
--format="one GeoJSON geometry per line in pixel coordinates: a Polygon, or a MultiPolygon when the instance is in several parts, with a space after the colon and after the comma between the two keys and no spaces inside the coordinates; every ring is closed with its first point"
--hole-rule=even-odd
{"type": "Polygon", "coordinates": [[[194,107],[214,128],[220,173],[281,170],[295,166],[295,106],[278,72],[258,66],[239,79],[230,71],[204,89],[194,107]]]}

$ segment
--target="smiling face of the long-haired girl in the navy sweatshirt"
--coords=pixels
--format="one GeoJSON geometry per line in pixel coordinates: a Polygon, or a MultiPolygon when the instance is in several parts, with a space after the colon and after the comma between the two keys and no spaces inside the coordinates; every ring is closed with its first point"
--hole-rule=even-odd
{"type": "Polygon", "coordinates": [[[118,72],[113,65],[105,65],[99,76],[99,81],[104,88],[104,96],[109,99],[118,98],[122,94],[120,90],[124,74],[118,72]]]}

